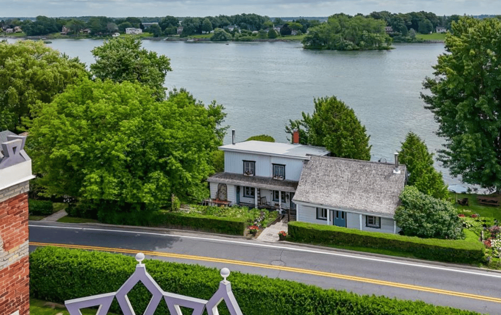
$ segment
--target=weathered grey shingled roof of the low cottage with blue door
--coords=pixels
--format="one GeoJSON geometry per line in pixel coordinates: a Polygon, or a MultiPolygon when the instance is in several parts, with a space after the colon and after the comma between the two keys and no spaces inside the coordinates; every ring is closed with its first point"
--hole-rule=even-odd
{"type": "Polygon", "coordinates": [[[293,201],[326,208],[394,215],[405,184],[405,165],[312,156],[293,201]]]}

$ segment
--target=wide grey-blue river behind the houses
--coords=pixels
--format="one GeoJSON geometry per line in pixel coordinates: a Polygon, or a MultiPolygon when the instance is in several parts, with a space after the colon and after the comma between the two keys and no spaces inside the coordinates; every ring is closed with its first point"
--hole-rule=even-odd
{"type": "MultiPolygon", "coordinates": [[[[89,66],[91,50],[101,40],[51,40],[50,47],[79,57],[89,66]]],[[[287,141],[285,125],[313,111],[313,98],[335,95],[355,110],[371,136],[372,160],[393,161],[393,153],[409,131],[431,152],[443,140],[420,98],[422,82],[432,76],[442,43],[395,44],[389,51],[313,51],[298,42],[185,43],[143,41],[143,47],[171,59],[168,89],[186,88],[195,98],[216,100],[226,110],[225,124],[236,140],[268,134],[287,141]]],[[[230,133],[229,133],[230,134],[230,133]]],[[[230,143],[229,135],[224,140],[230,143]]],[[[457,184],[439,162],[444,180],[457,184]]]]}

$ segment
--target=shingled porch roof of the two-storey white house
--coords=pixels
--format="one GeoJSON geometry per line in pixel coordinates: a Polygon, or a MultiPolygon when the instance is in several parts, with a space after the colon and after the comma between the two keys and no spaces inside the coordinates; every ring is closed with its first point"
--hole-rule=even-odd
{"type": "Polygon", "coordinates": [[[227,172],[214,174],[207,178],[207,181],[292,192],[294,192],[298,186],[298,182],[294,180],[279,180],[261,176],[245,176],[242,174],[227,172]]]}

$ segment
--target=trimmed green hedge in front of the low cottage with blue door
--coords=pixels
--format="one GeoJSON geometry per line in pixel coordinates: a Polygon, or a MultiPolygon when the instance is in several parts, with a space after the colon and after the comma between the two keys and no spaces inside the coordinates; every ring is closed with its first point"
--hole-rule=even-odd
{"type": "Polygon", "coordinates": [[[484,257],[480,242],[418,238],[360,231],[333,225],[289,222],[289,239],[299,242],[390,249],[416,257],[458,263],[478,263],[484,257]]]}

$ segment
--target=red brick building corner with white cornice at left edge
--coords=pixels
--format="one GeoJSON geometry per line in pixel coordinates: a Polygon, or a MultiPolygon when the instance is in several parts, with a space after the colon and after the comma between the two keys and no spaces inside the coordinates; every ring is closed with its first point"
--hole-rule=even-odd
{"type": "Polygon", "coordinates": [[[26,137],[0,132],[0,314],[30,313],[28,191],[31,159],[26,137]],[[5,141],[7,139],[7,141],[5,141]]]}

